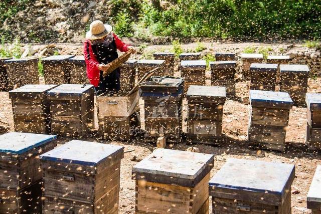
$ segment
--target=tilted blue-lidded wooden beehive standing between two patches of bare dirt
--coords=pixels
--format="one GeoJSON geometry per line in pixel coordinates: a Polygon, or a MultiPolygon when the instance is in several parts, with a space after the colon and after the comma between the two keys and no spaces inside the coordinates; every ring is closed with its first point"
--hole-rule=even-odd
{"type": "Polygon", "coordinates": [[[284,151],[292,100],[288,93],[250,90],[248,141],[262,148],[284,151]]]}

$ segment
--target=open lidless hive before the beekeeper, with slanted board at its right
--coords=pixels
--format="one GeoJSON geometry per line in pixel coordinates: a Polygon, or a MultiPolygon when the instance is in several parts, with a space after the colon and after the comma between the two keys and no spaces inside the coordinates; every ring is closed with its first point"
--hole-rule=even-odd
{"type": "Polygon", "coordinates": [[[115,96],[97,96],[98,132],[103,138],[130,140],[139,129],[138,85],[160,68],[147,72],[138,84],[128,93],[115,96]]]}

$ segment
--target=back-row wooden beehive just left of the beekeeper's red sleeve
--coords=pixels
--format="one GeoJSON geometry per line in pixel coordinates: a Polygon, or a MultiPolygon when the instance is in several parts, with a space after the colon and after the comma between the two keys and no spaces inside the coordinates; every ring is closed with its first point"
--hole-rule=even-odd
{"type": "Polygon", "coordinates": [[[69,58],[70,84],[88,84],[87,67],[84,56],[69,58]]]}

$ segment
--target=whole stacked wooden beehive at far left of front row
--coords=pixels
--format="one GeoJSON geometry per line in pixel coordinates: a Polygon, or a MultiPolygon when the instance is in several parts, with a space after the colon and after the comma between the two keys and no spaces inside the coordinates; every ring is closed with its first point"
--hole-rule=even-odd
{"type": "Polygon", "coordinates": [[[41,213],[39,155],[56,136],[11,132],[0,136],[0,213],[41,213]]]}

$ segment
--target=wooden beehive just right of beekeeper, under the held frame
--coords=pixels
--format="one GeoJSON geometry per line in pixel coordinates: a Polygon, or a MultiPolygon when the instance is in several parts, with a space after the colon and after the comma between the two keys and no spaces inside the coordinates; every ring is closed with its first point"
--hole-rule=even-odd
{"type": "Polygon", "coordinates": [[[120,69],[120,88],[124,93],[129,93],[135,85],[137,60],[127,60],[121,64],[120,69]]]}

